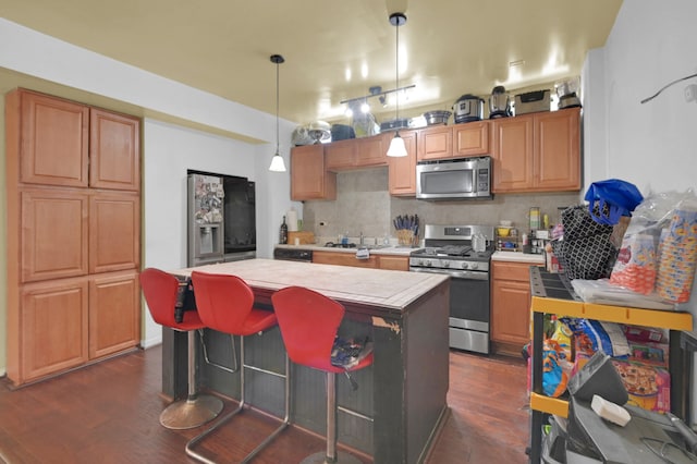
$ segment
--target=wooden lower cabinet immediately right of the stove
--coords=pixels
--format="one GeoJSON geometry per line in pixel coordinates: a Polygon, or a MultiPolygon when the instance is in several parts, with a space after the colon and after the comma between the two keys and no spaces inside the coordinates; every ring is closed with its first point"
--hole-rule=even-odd
{"type": "Polygon", "coordinates": [[[519,355],[530,341],[530,266],[491,264],[491,342],[497,352],[519,355]]]}

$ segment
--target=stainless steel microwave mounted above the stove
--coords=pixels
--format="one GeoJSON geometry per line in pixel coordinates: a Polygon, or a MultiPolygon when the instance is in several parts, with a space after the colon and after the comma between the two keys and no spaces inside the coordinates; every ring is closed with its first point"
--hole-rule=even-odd
{"type": "Polygon", "coordinates": [[[491,157],[419,161],[416,198],[485,199],[491,194],[491,157]]]}

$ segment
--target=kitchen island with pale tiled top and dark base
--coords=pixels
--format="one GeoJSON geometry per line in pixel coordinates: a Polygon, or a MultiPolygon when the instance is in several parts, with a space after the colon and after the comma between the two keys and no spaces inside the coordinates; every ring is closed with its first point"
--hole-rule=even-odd
{"type": "MultiPolygon", "coordinates": [[[[341,443],[371,455],[375,463],[424,462],[442,425],[449,384],[448,317],[450,279],[420,272],[387,271],[343,266],[252,259],[196,268],[244,279],[256,304],[272,310],[271,295],[289,285],[302,285],[342,303],[346,316],[342,337],[368,337],[374,342],[372,366],[353,373],[358,383],[338,379],[338,404],[360,416],[338,415],[341,443]]],[[[192,268],[172,273],[189,274],[192,268]]],[[[235,340],[239,344],[239,341],[235,340]]],[[[232,364],[230,339],[207,330],[210,361],[232,364]]],[[[249,364],[283,370],[284,350],[277,328],[245,339],[249,364]]],[[[186,337],[164,329],[162,386],[166,394],[186,394],[186,337]]],[[[204,389],[239,398],[239,374],[225,373],[199,359],[204,389]]],[[[248,402],[282,415],[280,379],[247,370],[248,402]]],[[[325,434],[323,375],[293,366],[292,422],[325,434]]]]}

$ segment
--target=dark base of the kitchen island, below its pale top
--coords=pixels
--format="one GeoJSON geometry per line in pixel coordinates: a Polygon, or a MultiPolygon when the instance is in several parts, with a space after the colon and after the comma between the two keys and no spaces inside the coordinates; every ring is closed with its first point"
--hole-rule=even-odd
{"type": "MultiPolygon", "coordinates": [[[[340,334],[370,337],[375,362],[352,374],[358,383],[356,391],[345,377],[338,377],[338,404],[372,417],[369,420],[340,412],[339,441],[372,455],[375,463],[424,462],[447,417],[449,286],[450,281],[443,281],[401,313],[342,301],[346,317],[340,334]]],[[[271,308],[271,292],[254,291],[257,304],[271,308]]],[[[205,338],[209,359],[231,366],[230,338],[210,330],[206,330],[205,338]]],[[[239,343],[235,338],[237,351],[239,343]]],[[[200,387],[240,398],[239,374],[207,365],[200,351],[200,387]]],[[[284,347],[278,328],[247,337],[245,355],[247,364],[282,373],[284,347]]],[[[325,376],[303,366],[293,365],[292,369],[291,420],[323,436],[325,376]]],[[[282,416],[282,380],[249,369],[245,376],[248,403],[282,416]]],[[[184,398],[186,389],[186,334],[163,329],[162,391],[172,398],[184,398]]]]}

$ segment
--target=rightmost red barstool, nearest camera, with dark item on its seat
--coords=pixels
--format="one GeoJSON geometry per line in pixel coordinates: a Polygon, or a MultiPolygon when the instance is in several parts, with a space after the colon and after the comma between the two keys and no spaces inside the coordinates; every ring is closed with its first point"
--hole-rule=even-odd
{"type": "Polygon", "coordinates": [[[372,364],[372,353],[357,365],[343,368],[331,364],[331,352],[345,309],[338,302],[302,286],[289,286],[271,296],[281,337],[293,363],[327,375],[327,452],[303,460],[309,463],[359,463],[351,454],[337,455],[337,374],[362,369],[372,364]]]}

